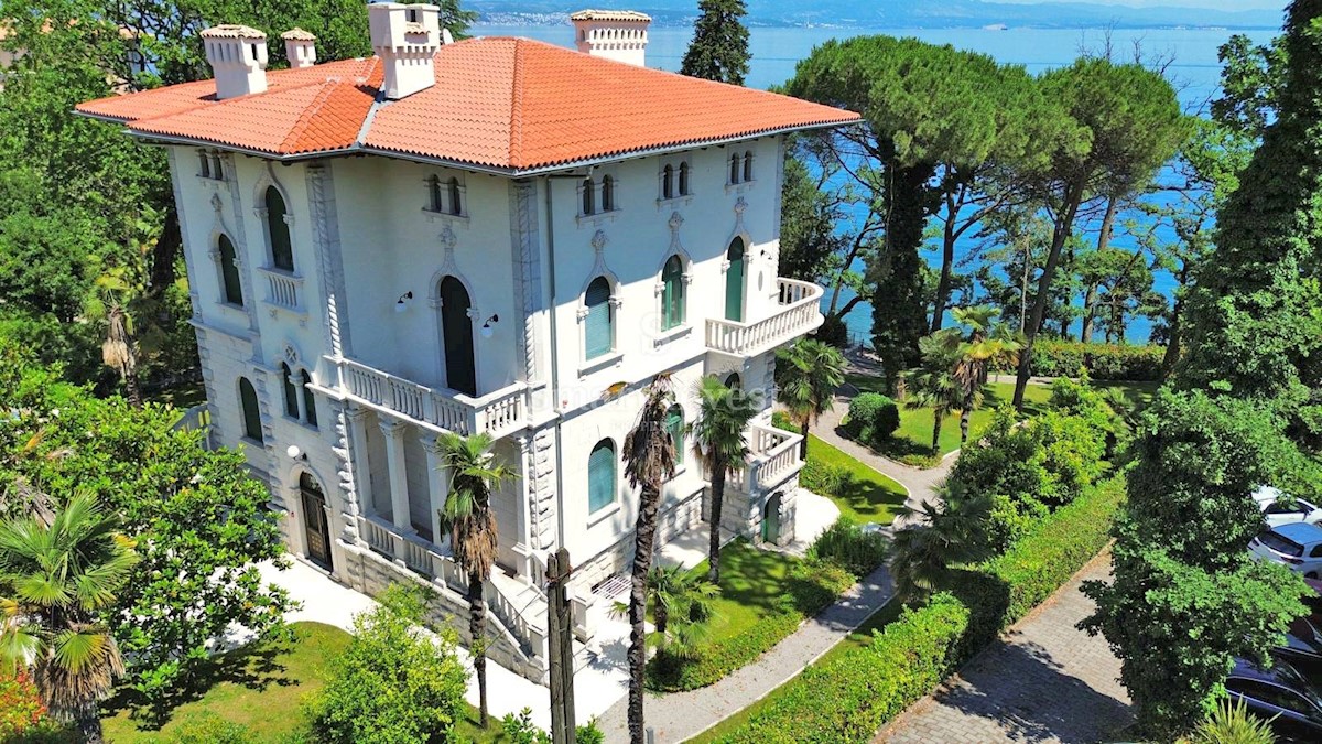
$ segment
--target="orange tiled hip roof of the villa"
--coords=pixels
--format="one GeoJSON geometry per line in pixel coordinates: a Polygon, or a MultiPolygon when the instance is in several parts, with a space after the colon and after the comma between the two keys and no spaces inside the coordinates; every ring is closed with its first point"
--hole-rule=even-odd
{"type": "Polygon", "coordinates": [[[78,111],[144,138],[275,156],[354,150],[526,172],[858,120],[773,93],[636,68],[526,38],[436,53],[436,85],[373,114],[381,61],[267,74],[267,91],[215,101],[201,81],[91,101],[78,111]]]}

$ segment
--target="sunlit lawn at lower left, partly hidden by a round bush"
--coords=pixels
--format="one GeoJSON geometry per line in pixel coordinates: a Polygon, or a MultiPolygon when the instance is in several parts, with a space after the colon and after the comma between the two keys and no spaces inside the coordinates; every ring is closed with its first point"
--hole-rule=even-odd
{"type": "MultiPolygon", "coordinates": [[[[147,711],[135,692],[120,690],[103,708],[106,741],[168,741],[186,721],[212,716],[246,727],[260,741],[295,733],[304,723],[299,712],[303,700],[325,684],[328,662],[349,645],[349,634],[320,622],[296,622],[293,631],[293,643],[245,646],[215,657],[193,687],[171,700],[159,727],[135,718],[147,711]]],[[[498,719],[484,732],[476,723],[477,711],[464,707],[468,719],[459,729],[467,740],[505,741],[498,719]]]]}

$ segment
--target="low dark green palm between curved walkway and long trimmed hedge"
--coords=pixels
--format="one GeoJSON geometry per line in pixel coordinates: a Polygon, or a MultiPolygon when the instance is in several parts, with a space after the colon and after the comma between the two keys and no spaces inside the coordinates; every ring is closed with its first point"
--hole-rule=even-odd
{"type": "Polygon", "coordinates": [[[908,527],[891,541],[891,576],[895,593],[916,600],[941,585],[949,567],[973,563],[989,555],[981,528],[986,519],[986,499],[949,492],[936,502],[906,507],[896,522],[908,527]]]}

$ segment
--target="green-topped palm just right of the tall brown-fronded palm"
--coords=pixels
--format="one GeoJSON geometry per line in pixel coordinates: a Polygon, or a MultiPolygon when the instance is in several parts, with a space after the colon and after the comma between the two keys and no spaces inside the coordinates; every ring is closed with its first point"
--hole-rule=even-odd
{"type": "Polygon", "coordinates": [[[707,547],[707,581],[720,581],[720,511],[726,502],[726,477],[748,458],[744,432],[761,408],[754,396],[731,389],[717,377],[698,383],[698,418],[693,441],[698,458],[711,474],[711,537],[707,547]]]}

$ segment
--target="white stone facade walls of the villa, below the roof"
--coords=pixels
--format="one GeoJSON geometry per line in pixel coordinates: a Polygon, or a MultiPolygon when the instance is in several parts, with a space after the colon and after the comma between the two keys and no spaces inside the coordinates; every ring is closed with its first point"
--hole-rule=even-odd
{"type": "MultiPolygon", "coordinates": [[[[616,457],[616,498],[591,508],[588,461],[604,440],[617,455],[656,375],[673,375],[686,422],[703,375],[738,375],[767,393],[750,432],[754,461],[731,479],[722,523],[752,539],[793,536],[801,463],[797,437],[769,429],[772,361],[821,323],[821,289],[777,279],[781,148],[765,136],[512,179],[378,156],[279,164],[169,147],[213,440],[241,447],[267,479],[291,551],[370,590],[387,569],[463,581],[438,530],[448,475],[434,442],[443,430],[492,433],[520,474],[494,503],[504,573],[488,600],[509,631],[497,658],[539,679],[545,556],[563,545],[574,559],[580,639],[592,588],[627,571],[636,494],[616,457]],[[595,213],[584,213],[588,176],[595,213]],[[271,189],[287,209],[283,259],[271,189]],[[732,244],[744,246],[742,273],[732,244]],[[683,322],[662,330],[672,257],[683,322]],[[279,266],[290,258],[292,270],[279,266]],[[242,306],[227,298],[226,271],[242,306]],[[586,294],[599,277],[613,332],[590,359],[586,294]],[[740,320],[727,320],[731,308],[740,320]],[[455,328],[471,339],[467,393],[455,389],[467,387],[453,367],[463,355],[447,351],[455,328]],[[255,393],[260,437],[241,380],[255,393]],[[324,508],[303,498],[309,483],[324,508]],[[765,519],[779,531],[764,534],[765,519]]],[[[662,540],[709,528],[706,475],[685,449],[665,490],[662,540]]]]}

